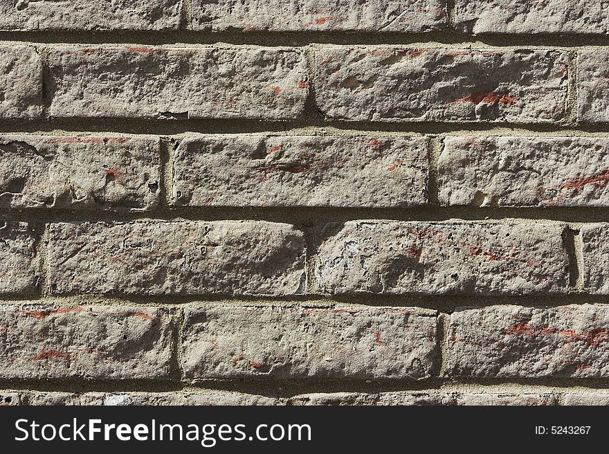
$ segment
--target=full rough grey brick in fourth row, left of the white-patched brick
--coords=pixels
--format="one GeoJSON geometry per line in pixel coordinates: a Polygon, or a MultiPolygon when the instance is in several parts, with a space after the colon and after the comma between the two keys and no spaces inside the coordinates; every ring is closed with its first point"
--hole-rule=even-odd
{"type": "Polygon", "coordinates": [[[294,295],[305,240],[253,221],[51,224],[52,293],[294,295]]]}

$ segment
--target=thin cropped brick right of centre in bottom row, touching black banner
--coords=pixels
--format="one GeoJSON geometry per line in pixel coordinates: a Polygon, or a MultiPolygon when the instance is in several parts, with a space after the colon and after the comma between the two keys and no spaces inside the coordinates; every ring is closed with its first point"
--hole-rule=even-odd
{"type": "Polygon", "coordinates": [[[458,392],[407,393],[381,392],[365,394],[359,392],[335,392],[330,394],[304,394],[293,397],[296,405],[316,406],[504,406],[554,405],[552,394],[461,394],[458,392]]]}

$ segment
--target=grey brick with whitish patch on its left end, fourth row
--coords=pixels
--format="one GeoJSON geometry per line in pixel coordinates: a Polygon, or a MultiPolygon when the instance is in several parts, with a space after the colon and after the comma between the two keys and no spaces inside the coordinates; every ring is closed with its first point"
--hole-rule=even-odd
{"type": "Polygon", "coordinates": [[[320,234],[322,293],[567,291],[559,224],[348,221],[320,234]]]}

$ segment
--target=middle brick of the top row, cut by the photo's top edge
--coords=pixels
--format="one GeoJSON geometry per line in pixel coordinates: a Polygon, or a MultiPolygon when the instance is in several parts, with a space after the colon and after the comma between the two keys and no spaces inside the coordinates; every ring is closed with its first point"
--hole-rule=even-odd
{"type": "Polygon", "coordinates": [[[192,2],[192,27],[214,31],[420,33],[448,24],[444,0],[231,0],[192,2]]]}

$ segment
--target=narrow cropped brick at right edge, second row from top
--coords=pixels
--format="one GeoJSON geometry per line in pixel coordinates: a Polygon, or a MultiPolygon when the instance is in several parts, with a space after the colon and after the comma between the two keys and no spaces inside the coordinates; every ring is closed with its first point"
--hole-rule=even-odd
{"type": "Polygon", "coordinates": [[[609,52],[577,53],[577,120],[609,122],[609,52]]]}

